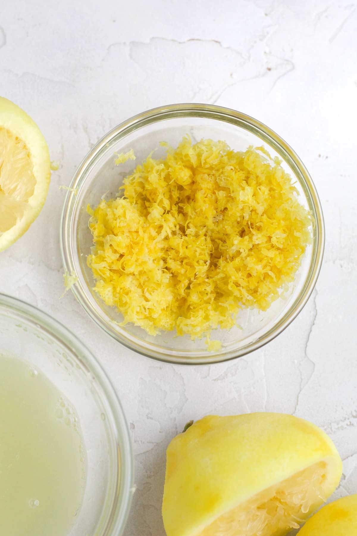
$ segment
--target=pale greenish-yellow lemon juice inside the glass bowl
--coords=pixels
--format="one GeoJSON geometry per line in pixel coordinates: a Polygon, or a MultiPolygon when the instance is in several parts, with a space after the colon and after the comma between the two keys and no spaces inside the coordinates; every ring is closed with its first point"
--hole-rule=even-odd
{"type": "Polygon", "coordinates": [[[69,401],[39,369],[0,354],[0,535],[66,536],[85,470],[69,401]]]}

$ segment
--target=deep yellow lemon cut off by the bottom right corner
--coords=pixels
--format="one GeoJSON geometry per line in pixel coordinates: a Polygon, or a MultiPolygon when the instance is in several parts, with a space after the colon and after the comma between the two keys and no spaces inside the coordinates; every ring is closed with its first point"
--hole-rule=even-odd
{"type": "Polygon", "coordinates": [[[357,536],[357,495],[330,503],[308,520],[298,536],[357,536]]]}

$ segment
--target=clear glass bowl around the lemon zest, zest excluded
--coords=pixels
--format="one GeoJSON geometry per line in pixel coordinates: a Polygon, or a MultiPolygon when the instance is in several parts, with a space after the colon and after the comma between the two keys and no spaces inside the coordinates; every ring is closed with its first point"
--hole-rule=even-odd
{"type": "Polygon", "coordinates": [[[75,272],[78,282],[74,295],[94,321],[127,347],[150,358],[171,363],[205,364],[237,358],[268,343],[282,332],[299,314],[313,291],[320,271],[323,247],[323,216],[314,183],[305,166],[282,138],[267,126],[238,111],[212,105],[182,104],[145,111],[116,126],[87,154],[74,174],[67,192],[60,226],[60,243],[65,270],[75,272]],[[87,255],[93,245],[88,228],[87,204],[118,195],[123,178],[147,155],[158,148],[155,157],[164,155],[159,142],[177,146],[189,134],[194,141],[201,138],[224,140],[231,148],[244,151],[249,145],[263,146],[271,157],[279,157],[298,188],[300,203],[310,210],[314,219],[313,242],[307,248],[290,290],[275,301],[266,312],[242,309],[238,324],[243,329],[215,330],[211,339],[222,341],[216,352],[207,352],[203,339],[176,337],[175,332],[162,332],[155,337],[133,325],[118,325],[123,317],[110,308],[94,291],[92,271],[87,255]],[[114,153],[134,150],[136,161],[127,161],[118,168],[114,153]]]}

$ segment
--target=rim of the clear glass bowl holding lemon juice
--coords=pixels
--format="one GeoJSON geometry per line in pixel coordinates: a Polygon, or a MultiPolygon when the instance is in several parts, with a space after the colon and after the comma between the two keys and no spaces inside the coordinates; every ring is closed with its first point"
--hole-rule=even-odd
{"type": "MultiPolygon", "coordinates": [[[[94,354],[74,335],[66,326],[58,322],[47,312],[19,300],[16,297],[0,293],[0,312],[17,315],[22,321],[32,324],[36,329],[41,329],[48,337],[59,341],[71,352],[74,360],[83,360],[85,366],[95,377],[103,391],[109,404],[116,425],[116,433],[123,442],[123,450],[120,451],[120,478],[116,489],[121,488],[121,500],[113,501],[109,513],[107,513],[108,523],[100,528],[103,536],[117,536],[124,533],[124,528],[129,516],[132,503],[132,489],[134,482],[134,460],[131,435],[123,407],[121,406],[117,392],[112,385],[109,376],[102,365],[95,358],[94,354]],[[110,532],[108,532],[110,531],[110,532]]],[[[100,535],[99,535],[100,536],[100,535]]]]}

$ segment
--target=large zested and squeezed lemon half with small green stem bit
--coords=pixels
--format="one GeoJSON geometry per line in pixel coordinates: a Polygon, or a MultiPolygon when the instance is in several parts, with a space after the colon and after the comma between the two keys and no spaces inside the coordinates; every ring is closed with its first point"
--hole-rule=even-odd
{"type": "Polygon", "coordinates": [[[168,536],[280,536],[336,489],[342,463],[330,438],[292,415],[209,415],[166,453],[168,536]]]}

